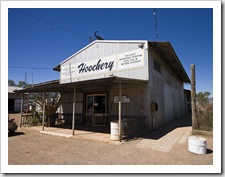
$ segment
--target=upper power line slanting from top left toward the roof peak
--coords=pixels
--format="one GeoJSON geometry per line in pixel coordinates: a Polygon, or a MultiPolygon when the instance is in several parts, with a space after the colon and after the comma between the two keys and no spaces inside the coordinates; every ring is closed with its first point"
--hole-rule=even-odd
{"type": "Polygon", "coordinates": [[[52,22],[50,22],[50,21],[48,21],[48,20],[45,20],[45,19],[43,19],[43,18],[40,18],[40,17],[31,15],[31,14],[28,14],[28,13],[23,12],[23,11],[18,10],[18,9],[10,9],[10,10],[15,11],[15,12],[18,12],[18,13],[20,13],[20,14],[23,14],[23,15],[25,15],[25,16],[29,16],[29,17],[31,17],[31,18],[37,20],[37,21],[44,22],[44,23],[46,23],[46,24],[48,24],[48,25],[50,25],[50,26],[53,26],[53,27],[58,28],[58,29],[61,29],[61,30],[63,30],[63,31],[70,32],[70,33],[72,33],[72,34],[74,34],[74,35],[76,35],[76,36],[81,36],[81,37],[84,37],[84,38],[89,39],[89,37],[86,36],[86,35],[83,35],[83,34],[81,34],[81,33],[75,32],[75,31],[70,30],[70,29],[68,29],[68,28],[65,28],[65,27],[63,27],[63,26],[57,25],[56,23],[52,23],[52,22]]]}

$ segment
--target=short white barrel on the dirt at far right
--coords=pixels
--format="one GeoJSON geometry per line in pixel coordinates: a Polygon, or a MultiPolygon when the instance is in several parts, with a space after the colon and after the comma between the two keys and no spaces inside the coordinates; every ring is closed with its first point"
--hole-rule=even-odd
{"type": "Polygon", "coordinates": [[[198,136],[190,136],[188,138],[188,150],[195,154],[206,154],[207,140],[198,136]]]}

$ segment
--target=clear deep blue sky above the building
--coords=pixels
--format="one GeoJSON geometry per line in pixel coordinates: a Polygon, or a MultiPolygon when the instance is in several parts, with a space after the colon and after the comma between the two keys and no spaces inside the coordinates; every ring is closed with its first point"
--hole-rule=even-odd
{"type": "MultiPolygon", "coordinates": [[[[213,9],[155,10],[159,41],[172,44],[189,76],[196,65],[197,92],[213,94],[213,9]]],[[[95,31],[106,40],[155,41],[153,8],[9,9],[8,78],[30,84],[59,79],[58,72],[39,68],[57,66],[88,45],[95,31]]]]}

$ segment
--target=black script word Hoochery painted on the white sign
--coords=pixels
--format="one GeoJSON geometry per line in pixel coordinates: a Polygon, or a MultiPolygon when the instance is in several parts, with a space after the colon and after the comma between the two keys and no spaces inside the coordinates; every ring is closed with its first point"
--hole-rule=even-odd
{"type": "Polygon", "coordinates": [[[94,65],[87,65],[86,63],[81,63],[78,66],[78,69],[80,74],[80,73],[87,73],[87,72],[98,71],[98,70],[111,71],[113,67],[114,67],[114,61],[102,62],[102,60],[99,59],[98,62],[94,65]]]}

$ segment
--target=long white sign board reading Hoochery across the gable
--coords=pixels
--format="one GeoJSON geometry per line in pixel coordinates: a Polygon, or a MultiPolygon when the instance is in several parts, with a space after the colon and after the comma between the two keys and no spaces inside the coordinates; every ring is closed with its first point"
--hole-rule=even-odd
{"type": "MultiPolygon", "coordinates": [[[[68,62],[69,63],[69,62],[68,62]]],[[[116,55],[61,66],[60,82],[74,82],[90,75],[115,74],[119,71],[144,66],[144,51],[136,49],[116,55]],[[66,81],[67,80],[67,81],[66,81]]],[[[84,79],[86,80],[86,79],[84,79]]]]}

